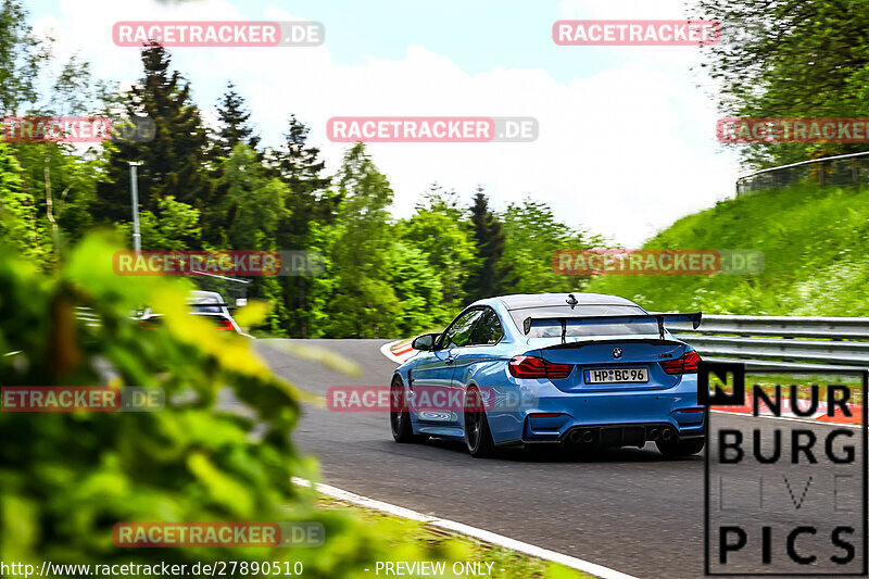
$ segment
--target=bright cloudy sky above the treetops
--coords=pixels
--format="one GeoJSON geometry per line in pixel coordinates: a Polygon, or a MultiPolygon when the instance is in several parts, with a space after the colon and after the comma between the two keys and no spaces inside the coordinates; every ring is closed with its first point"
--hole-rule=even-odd
{"type": "Polygon", "coordinates": [[[677,218],[732,197],[736,154],[715,138],[715,84],[697,47],[566,47],[558,20],[678,20],[675,0],[29,0],[55,53],[78,54],[95,77],[141,76],[136,48],[117,47],[117,21],[317,21],[319,47],[172,48],[173,66],[214,118],[227,81],[277,146],[295,114],[327,171],[345,143],[333,116],[532,116],[533,142],[370,143],[408,216],[437,182],[469,202],[478,186],[495,209],[525,197],[556,218],[637,247],[677,218]]]}

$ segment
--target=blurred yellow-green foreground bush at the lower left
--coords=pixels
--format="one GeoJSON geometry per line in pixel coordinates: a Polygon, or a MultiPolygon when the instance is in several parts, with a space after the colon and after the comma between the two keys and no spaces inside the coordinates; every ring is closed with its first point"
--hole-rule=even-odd
{"type": "MultiPolygon", "coordinates": [[[[159,388],[166,397],[156,412],[0,413],[0,559],[37,567],[300,561],[306,577],[339,578],[360,577],[376,561],[469,554],[457,541],[416,540],[412,523],[317,508],[316,495],[291,482],[316,476],[290,438],[300,394],[270,373],[250,340],[188,314],[185,280],[129,284],[115,275],[117,248],[88,237],[52,275],[0,248],[0,351],[8,354],[0,356],[0,383],[96,386],[111,368],[114,386],[159,388]],[[144,329],[130,319],[141,304],[163,312],[164,324],[144,329]],[[100,324],[77,320],[76,306],[90,307],[100,324]],[[238,404],[218,407],[221,391],[238,404]],[[325,543],[121,549],[112,541],[121,521],[315,521],[325,543]]],[[[261,314],[253,306],[238,317],[261,314]]],[[[290,353],[354,369],[310,348],[290,344],[290,353]]]]}

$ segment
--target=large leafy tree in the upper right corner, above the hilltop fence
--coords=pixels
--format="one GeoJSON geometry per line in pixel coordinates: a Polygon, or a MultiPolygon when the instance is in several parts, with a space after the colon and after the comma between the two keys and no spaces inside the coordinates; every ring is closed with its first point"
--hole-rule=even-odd
{"type": "MultiPolygon", "coordinates": [[[[700,18],[723,23],[707,47],[719,109],[740,117],[869,115],[869,12],[864,0],[701,0],[700,18]]],[[[768,166],[867,150],[866,144],[740,144],[768,166]]]]}

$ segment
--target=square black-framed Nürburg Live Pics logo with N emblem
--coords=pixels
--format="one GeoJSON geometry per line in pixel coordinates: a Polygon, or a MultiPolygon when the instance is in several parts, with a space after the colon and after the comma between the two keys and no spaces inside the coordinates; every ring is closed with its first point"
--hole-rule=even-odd
{"type": "Polygon", "coordinates": [[[776,383],[746,395],[743,363],[704,361],[697,374],[705,574],[866,576],[869,370],[813,370],[802,386],[786,385],[794,370],[755,374],[776,383]]]}

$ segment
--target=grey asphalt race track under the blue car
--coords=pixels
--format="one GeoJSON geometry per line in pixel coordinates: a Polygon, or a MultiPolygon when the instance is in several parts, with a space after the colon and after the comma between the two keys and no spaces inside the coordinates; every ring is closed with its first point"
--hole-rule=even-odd
{"type": "MultiPolygon", "coordinates": [[[[354,361],[357,378],[275,351],[274,341],[256,344],[274,370],[317,394],[386,386],[395,368],[379,351],[387,340],[299,341],[354,361]]],[[[664,458],[648,443],[592,457],[550,450],[477,460],[457,444],[396,444],[385,413],[311,406],[294,439],[320,462],[323,481],[341,489],[637,577],[703,577],[702,456],[664,458]]]]}

